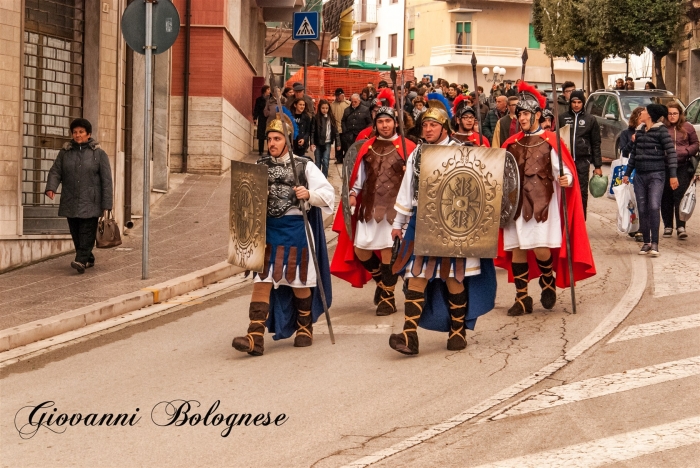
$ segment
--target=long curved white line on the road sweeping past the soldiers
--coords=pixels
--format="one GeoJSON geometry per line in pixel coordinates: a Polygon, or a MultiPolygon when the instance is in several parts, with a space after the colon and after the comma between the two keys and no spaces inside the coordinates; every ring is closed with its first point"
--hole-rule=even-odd
{"type": "MultiPolygon", "coordinates": [[[[609,224],[614,224],[607,218],[603,216],[596,215],[595,213],[589,213],[594,217],[600,218],[603,221],[607,221],[609,224]]],[[[636,246],[635,246],[636,247],[636,246]]],[[[631,248],[628,246],[627,250],[632,253],[631,248]]],[[[571,348],[564,356],[560,356],[555,359],[550,364],[546,365],[537,372],[531,374],[530,376],[524,378],[520,382],[517,382],[510,387],[507,387],[494,396],[487,398],[486,400],[472,406],[468,410],[460,413],[452,418],[437,424],[433,427],[426,429],[408,439],[398,442],[389,448],[379,450],[371,455],[362,457],[353,462],[348,463],[343,468],[360,468],[366,467],[373,463],[377,463],[385,458],[396,455],[397,453],[403,452],[411,447],[415,447],[426,440],[432,439],[435,436],[443,434],[450,429],[463,424],[470,419],[490,410],[496,405],[503,403],[516,396],[519,393],[524,392],[533,385],[541,382],[547,377],[554,374],[556,371],[567,365],[569,362],[573,361],[581,354],[590,349],[593,345],[598,343],[600,340],[609,335],[615,327],[617,327],[628,315],[632,312],[632,309],[639,303],[639,300],[644,294],[647,284],[647,268],[644,258],[639,255],[630,256],[630,270],[631,277],[629,285],[625,294],[622,296],[620,301],[615,305],[615,307],[610,311],[608,315],[598,324],[598,326],[593,330],[588,336],[581,340],[576,346],[571,348]]]]}

